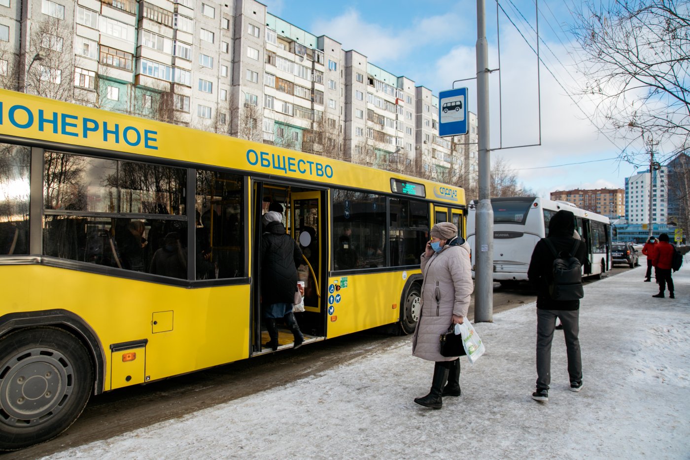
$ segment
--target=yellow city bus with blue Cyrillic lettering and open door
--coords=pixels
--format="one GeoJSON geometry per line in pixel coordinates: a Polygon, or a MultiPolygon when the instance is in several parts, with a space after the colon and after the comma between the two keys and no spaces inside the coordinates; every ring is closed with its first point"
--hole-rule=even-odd
{"type": "Polygon", "coordinates": [[[464,235],[466,215],[455,186],[8,90],[0,199],[3,450],[55,437],[91,394],[273,352],[273,202],[304,253],[305,343],[413,332],[428,229],[464,235]]]}

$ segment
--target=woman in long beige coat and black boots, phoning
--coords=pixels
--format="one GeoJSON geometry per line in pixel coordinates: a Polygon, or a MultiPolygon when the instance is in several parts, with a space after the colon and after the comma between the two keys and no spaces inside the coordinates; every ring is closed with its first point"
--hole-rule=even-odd
{"type": "Polygon", "coordinates": [[[457,227],[440,222],[429,235],[431,241],[422,254],[422,316],[415,329],[412,354],[435,365],[431,391],[415,398],[415,403],[440,409],[442,396],[460,396],[460,358],[442,356],[439,337],[451,324],[464,321],[473,285],[470,248],[457,236],[457,227]]]}

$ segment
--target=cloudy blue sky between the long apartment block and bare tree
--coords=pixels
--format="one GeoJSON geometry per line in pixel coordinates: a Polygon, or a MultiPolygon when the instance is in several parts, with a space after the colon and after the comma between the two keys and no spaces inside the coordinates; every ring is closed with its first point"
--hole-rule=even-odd
{"type": "MultiPolygon", "coordinates": [[[[413,79],[435,95],[453,88],[455,80],[475,77],[474,0],[262,3],[271,14],[313,35],[328,35],[344,50],[362,52],[375,66],[413,79]]],[[[591,122],[595,102],[573,96],[578,52],[569,32],[573,17],[567,8],[573,0],[539,3],[544,61],[540,85],[536,55],[530,48],[536,44],[535,4],[502,0],[507,16],[500,12],[497,21],[496,3],[486,1],[489,68],[500,68],[489,77],[490,146],[502,147],[491,152],[492,162],[502,157],[519,182],[546,198],[555,190],[623,188],[625,178],[645,168],[620,162],[618,155],[627,143],[613,140],[591,122]],[[510,148],[531,144],[540,145],[510,148]]],[[[469,110],[476,113],[475,80],[455,84],[460,86],[468,87],[469,110]]],[[[642,151],[636,144],[633,140],[629,148],[642,151]]]]}

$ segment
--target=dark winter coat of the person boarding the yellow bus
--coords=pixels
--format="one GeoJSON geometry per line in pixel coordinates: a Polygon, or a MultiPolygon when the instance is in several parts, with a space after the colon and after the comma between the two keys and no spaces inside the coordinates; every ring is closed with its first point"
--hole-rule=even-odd
{"type": "Polygon", "coordinates": [[[302,251],[285,233],[282,222],[266,225],[261,237],[261,260],[262,303],[293,303],[302,251]]]}

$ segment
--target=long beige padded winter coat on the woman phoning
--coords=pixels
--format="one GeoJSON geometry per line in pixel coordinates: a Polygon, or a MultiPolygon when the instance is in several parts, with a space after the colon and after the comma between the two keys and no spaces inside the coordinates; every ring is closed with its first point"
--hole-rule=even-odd
{"type": "Polygon", "coordinates": [[[462,238],[453,238],[431,257],[422,253],[422,316],[412,338],[412,354],[427,361],[453,361],[442,356],[439,336],[448,331],[453,315],[467,320],[472,294],[470,247],[462,238]]]}

